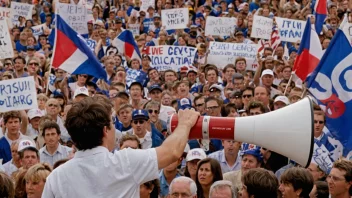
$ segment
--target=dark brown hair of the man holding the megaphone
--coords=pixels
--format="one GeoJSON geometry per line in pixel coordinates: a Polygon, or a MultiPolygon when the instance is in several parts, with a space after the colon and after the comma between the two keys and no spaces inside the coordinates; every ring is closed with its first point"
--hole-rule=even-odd
{"type": "Polygon", "coordinates": [[[78,150],[102,145],[104,127],[111,127],[111,109],[110,100],[100,95],[87,97],[72,105],[65,127],[78,150]]]}

